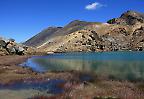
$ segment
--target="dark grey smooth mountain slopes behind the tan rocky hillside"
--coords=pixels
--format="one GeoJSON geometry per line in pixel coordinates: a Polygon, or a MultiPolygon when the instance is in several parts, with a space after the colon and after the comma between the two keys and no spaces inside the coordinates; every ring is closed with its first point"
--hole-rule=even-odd
{"type": "Polygon", "coordinates": [[[47,41],[51,42],[51,38],[67,35],[74,31],[78,31],[89,24],[92,23],[75,20],[66,25],[65,27],[48,27],[47,29],[43,30],[42,32],[38,33],[34,37],[24,42],[24,44],[27,46],[38,47],[39,45],[47,41]]]}

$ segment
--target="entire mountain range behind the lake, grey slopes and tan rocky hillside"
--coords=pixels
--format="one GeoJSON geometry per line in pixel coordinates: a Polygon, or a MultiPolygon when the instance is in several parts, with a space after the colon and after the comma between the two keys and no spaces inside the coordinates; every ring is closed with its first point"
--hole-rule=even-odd
{"type": "Polygon", "coordinates": [[[46,52],[144,49],[144,14],[136,11],[127,11],[107,23],[75,20],[65,27],[51,29],[24,44],[46,52]]]}

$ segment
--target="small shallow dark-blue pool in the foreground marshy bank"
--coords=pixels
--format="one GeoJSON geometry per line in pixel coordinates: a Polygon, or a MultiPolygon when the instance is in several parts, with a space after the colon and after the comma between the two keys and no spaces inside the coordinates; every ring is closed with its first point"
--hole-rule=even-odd
{"type": "Polygon", "coordinates": [[[65,83],[62,79],[45,81],[17,81],[11,84],[0,85],[0,99],[31,99],[37,95],[52,96],[61,94],[64,89],[59,84],[65,83]]]}

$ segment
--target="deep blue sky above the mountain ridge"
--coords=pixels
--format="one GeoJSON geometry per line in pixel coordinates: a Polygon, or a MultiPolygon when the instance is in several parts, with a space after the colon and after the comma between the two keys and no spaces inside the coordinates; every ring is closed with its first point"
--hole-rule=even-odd
{"type": "Polygon", "coordinates": [[[0,0],[0,36],[23,42],[49,26],[106,22],[127,10],[144,13],[144,0],[0,0]]]}

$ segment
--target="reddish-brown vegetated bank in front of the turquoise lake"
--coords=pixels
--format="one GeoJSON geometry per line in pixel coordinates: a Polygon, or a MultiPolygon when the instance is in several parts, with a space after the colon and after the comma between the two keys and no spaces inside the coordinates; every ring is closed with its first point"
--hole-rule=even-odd
{"type": "Polygon", "coordinates": [[[52,96],[35,95],[32,99],[143,99],[144,84],[139,81],[119,81],[106,75],[97,76],[78,71],[37,73],[18,66],[31,56],[0,56],[0,84],[7,86],[16,82],[63,79],[57,85],[64,93],[52,96]]]}

